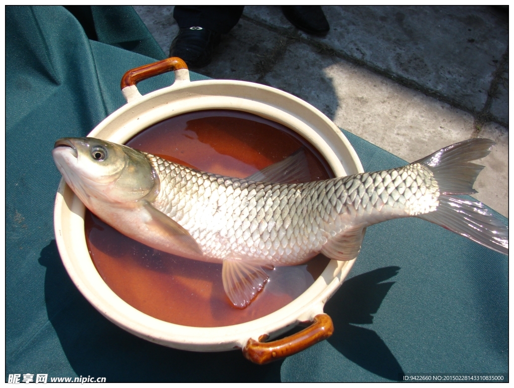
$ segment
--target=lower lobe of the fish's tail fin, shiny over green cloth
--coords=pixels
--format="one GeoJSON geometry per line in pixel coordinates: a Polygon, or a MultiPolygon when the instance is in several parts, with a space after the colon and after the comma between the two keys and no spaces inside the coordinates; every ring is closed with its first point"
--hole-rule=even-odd
{"type": "Polygon", "coordinates": [[[442,226],[501,254],[509,254],[509,231],[481,202],[440,196],[435,211],[416,217],[442,226]]]}

